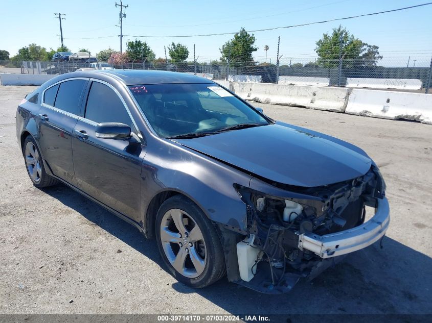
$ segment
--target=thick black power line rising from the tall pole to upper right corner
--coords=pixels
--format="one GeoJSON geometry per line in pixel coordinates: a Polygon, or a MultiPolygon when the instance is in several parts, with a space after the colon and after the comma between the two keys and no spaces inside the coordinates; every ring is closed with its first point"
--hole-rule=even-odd
{"type": "MultiPolygon", "coordinates": [[[[303,26],[309,26],[311,24],[320,24],[320,23],[326,23],[326,22],[332,22],[332,21],[339,21],[339,20],[347,20],[347,19],[353,19],[353,18],[359,18],[359,17],[366,17],[366,16],[374,16],[379,15],[383,13],[390,13],[395,11],[402,11],[407,9],[413,9],[423,6],[432,5],[432,2],[428,2],[421,5],[416,6],[410,6],[410,7],[404,7],[404,8],[398,8],[398,9],[392,9],[392,10],[386,10],[386,11],[380,11],[380,12],[373,12],[373,13],[367,13],[362,15],[356,15],[356,16],[350,16],[350,17],[344,17],[344,18],[335,18],[335,19],[329,19],[329,20],[323,20],[323,21],[314,21],[314,22],[308,22],[308,23],[301,23],[301,24],[293,24],[291,26],[284,26],[284,27],[273,27],[273,28],[265,28],[265,29],[256,29],[256,30],[248,30],[247,33],[256,33],[256,32],[262,32],[262,31],[269,31],[269,30],[277,30],[277,29],[287,29],[287,28],[294,28],[294,27],[303,27],[303,26]]],[[[177,36],[138,36],[138,35],[124,35],[127,37],[137,37],[137,38],[180,38],[180,37],[203,37],[203,36],[220,36],[220,35],[232,35],[237,34],[238,32],[230,32],[230,33],[217,33],[217,34],[202,34],[202,35],[177,35],[177,36]]]]}

